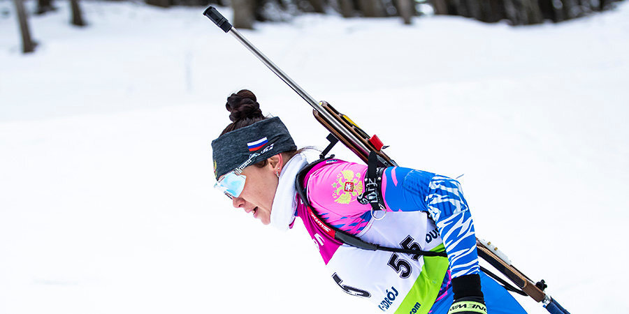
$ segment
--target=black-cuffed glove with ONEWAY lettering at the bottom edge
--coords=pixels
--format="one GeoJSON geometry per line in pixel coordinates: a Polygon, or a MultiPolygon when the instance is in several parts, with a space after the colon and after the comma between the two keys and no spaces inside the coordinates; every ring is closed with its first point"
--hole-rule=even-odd
{"type": "Polygon", "coordinates": [[[454,302],[448,314],[487,314],[478,274],[452,278],[454,302]]]}

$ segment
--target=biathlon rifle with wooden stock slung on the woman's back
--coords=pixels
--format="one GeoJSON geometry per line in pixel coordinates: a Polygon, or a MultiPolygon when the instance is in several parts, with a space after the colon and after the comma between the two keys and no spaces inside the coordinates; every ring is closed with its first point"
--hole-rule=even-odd
{"type": "MultiPolygon", "coordinates": [[[[358,126],[356,126],[354,122],[349,120],[349,118],[347,118],[344,114],[340,114],[339,112],[337,112],[327,103],[318,103],[314,98],[312,98],[312,96],[310,96],[296,82],[294,82],[294,80],[286,75],[284,71],[278,68],[275,63],[270,61],[268,57],[266,57],[260,50],[252,45],[252,43],[250,43],[247,38],[240,34],[240,32],[238,32],[238,30],[234,28],[229,23],[229,21],[225,17],[223,17],[223,15],[218,12],[218,10],[216,10],[216,8],[212,6],[208,7],[203,12],[203,15],[212,20],[212,22],[214,22],[217,27],[222,29],[225,33],[231,33],[231,35],[234,36],[236,40],[245,45],[245,47],[247,47],[247,49],[250,50],[258,59],[260,59],[260,61],[262,61],[262,63],[264,63],[270,70],[272,70],[273,73],[277,75],[277,77],[280,77],[282,81],[289,85],[289,87],[291,87],[291,89],[293,89],[299,96],[301,96],[301,98],[303,98],[306,103],[312,106],[315,112],[324,117],[324,121],[321,121],[321,119],[319,119],[319,117],[315,114],[317,120],[319,120],[321,124],[328,128],[328,130],[330,130],[333,135],[338,137],[338,140],[341,140],[344,144],[346,144],[346,146],[348,146],[349,149],[352,149],[354,153],[358,154],[359,157],[366,161],[370,151],[377,151],[377,153],[384,158],[384,162],[388,163],[389,165],[396,165],[395,162],[393,162],[391,158],[386,156],[386,154],[383,154],[379,148],[370,149],[365,144],[365,142],[361,142],[361,140],[359,140],[359,137],[361,136],[359,135],[361,134],[360,132],[356,133],[354,131],[354,133],[352,134],[352,132],[348,130],[348,127],[353,128],[352,126],[358,128],[358,126]],[[343,124],[345,124],[345,126],[343,126],[343,124]]],[[[360,130],[360,128],[358,129],[360,130]]],[[[364,133],[362,130],[360,131],[364,133]]],[[[522,289],[523,292],[526,293],[529,297],[533,298],[537,302],[542,302],[542,306],[544,306],[544,308],[546,308],[547,311],[549,311],[551,314],[570,314],[561,305],[559,305],[555,299],[544,292],[545,284],[543,283],[543,281],[539,286],[533,283],[530,278],[528,278],[521,271],[513,267],[506,255],[498,251],[498,249],[495,246],[492,246],[491,243],[477,239],[477,248],[479,257],[482,257],[494,268],[500,271],[500,273],[507,276],[510,281],[520,287],[520,289],[522,289]]]]}

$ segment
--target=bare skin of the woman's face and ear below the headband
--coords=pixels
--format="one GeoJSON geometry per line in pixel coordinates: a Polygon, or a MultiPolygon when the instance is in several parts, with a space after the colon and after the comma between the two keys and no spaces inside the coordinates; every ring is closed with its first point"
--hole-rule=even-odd
{"type": "Polygon", "coordinates": [[[264,167],[256,165],[246,167],[242,172],[247,177],[245,188],[239,197],[233,197],[233,207],[245,209],[264,225],[268,225],[275,190],[280,181],[275,174],[276,171],[278,173],[282,171],[281,154],[268,158],[264,167]]]}

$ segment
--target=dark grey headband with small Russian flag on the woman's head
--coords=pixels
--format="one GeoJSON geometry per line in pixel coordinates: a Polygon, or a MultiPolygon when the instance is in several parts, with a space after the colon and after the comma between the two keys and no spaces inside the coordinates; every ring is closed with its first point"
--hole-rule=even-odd
{"type": "Polygon", "coordinates": [[[280,118],[273,117],[233,130],[212,141],[214,175],[240,172],[248,165],[297,149],[291,134],[280,118]]]}

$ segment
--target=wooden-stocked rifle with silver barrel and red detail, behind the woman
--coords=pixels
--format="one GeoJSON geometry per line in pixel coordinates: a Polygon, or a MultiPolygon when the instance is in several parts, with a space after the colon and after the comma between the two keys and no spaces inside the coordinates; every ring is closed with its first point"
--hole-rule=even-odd
{"type": "MultiPolygon", "coordinates": [[[[282,81],[284,81],[291,89],[293,89],[303,100],[308,103],[312,107],[312,113],[315,115],[315,118],[321,125],[323,125],[328,131],[330,131],[331,136],[328,136],[328,140],[331,142],[326,149],[324,149],[321,156],[325,156],[328,151],[336,144],[336,142],[340,141],[345,146],[354,152],[356,156],[359,156],[361,160],[365,163],[368,163],[368,159],[371,154],[375,154],[377,156],[377,163],[379,165],[384,165],[385,167],[394,167],[397,166],[396,162],[393,161],[389,156],[387,156],[384,151],[382,151],[384,145],[382,141],[379,140],[377,135],[369,136],[363,129],[361,129],[357,124],[349,119],[347,115],[340,113],[338,110],[335,110],[332,105],[321,101],[320,103],[312,98],[304,89],[302,89],[294,80],[292,80],[284,71],[278,68],[275,63],[270,61],[268,57],[266,57],[260,50],[258,50],[252,43],[247,40],[236,28],[234,28],[228,20],[226,20],[221,13],[216,10],[216,8],[210,6],[203,12],[203,15],[208,17],[212,22],[214,22],[217,27],[222,29],[225,33],[230,33],[232,36],[236,38],[240,43],[245,45],[248,50],[250,50],[264,65],[266,65],[270,70],[280,77],[282,81]]],[[[496,270],[500,271],[505,277],[509,278],[509,281],[512,281],[520,290],[515,289],[502,278],[489,273],[489,276],[492,276],[494,279],[499,281],[500,283],[512,292],[516,292],[522,295],[528,295],[533,298],[536,302],[542,302],[542,306],[547,309],[551,314],[570,314],[566,311],[558,302],[552,298],[549,294],[545,292],[547,284],[544,280],[539,281],[537,283],[533,283],[533,281],[528,278],[521,271],[516,269],[513,266],[507,255],[502,253],[496,248],[491,242],[484,241],[483,239],[476,239],[477,251],[479,257],[483,260],[491,264],[496,270]]]]}

